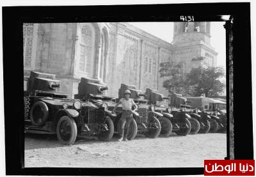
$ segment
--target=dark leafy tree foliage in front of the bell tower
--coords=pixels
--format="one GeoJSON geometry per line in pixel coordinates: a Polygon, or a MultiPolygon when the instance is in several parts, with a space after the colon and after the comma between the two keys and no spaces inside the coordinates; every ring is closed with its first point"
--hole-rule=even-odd
{"type": "Polygon", "coordinates": [[[164,78],[163,87],[168,92],[177,92],[184,96],[205,94],[205,97],[215,97],[225,89],[225,83],[220,81],[225,76],[222,67],[196,67],[187,74],[184,74],[182,67],[181,63],[160,64],[160,77],[164,78]]]}

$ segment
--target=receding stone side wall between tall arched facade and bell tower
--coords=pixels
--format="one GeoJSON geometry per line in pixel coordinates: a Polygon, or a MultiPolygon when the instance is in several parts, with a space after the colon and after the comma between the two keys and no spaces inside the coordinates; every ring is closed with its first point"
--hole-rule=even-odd
{"type": "Polygon", "coordinates": [[[118,96],[121,83],[134,85],[145,92],[146,88],[164,90],[159,80],[159,63],[170,60],[172,46],[127,23],[111,23],[109,63],[106,83],[108,95],[118,96]],[[160,50],[160,48],[163,48],[160,50]]]}

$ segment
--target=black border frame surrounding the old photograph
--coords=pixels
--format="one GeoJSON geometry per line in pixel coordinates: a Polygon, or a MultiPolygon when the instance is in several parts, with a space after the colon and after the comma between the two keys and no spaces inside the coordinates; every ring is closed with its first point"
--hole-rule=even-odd
{"type": "MultiPolygon", "coordinates": [[[[180,21],[179,15],[194,15],[195,21],[223,21],[220,15],[233,15],[235,19],[234,153],[235,159],[253,159],[250,3],[13,6],[3,7],[2,10],[6,174],[102,176],[204,174],[203,167],[100,170],[88,168],[22,168],[24,160],[24,118],[20,117],[20,115],[24,115],[22,107],[24,104],[22,67],[23,22],[173,22],[180,21]],[[15,60],[15,64],[13,64],[13,60],[15,60]],[[245,78],[241,78],[241,73],[239,73],[241,69],[243,71],[242,76],[245,76],[245,78]],[[248,80],[245,81],[245,79],[248,80]],[[242,83],[243,87],[239,87],[242,83]],[[243,95],[244,88],[246,88],[246,96],[243,95]],[[246,141],[244,141],[244,136],[246,141]]],[[[225,159],[229,159],[230,156],[228,148],[229,134],[227,134],[228,157],[225,159]]]]}

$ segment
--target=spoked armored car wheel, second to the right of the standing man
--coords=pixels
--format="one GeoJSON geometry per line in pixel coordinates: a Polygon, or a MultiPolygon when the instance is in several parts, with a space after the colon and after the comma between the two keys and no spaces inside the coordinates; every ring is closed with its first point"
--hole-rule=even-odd
{"type": "Polygon", "coordinates": [[[161,124],[156,117],[148,118],[148,128],[145,132],[145,136],[148,138],[157,138],[161,131],[161,124]]]}

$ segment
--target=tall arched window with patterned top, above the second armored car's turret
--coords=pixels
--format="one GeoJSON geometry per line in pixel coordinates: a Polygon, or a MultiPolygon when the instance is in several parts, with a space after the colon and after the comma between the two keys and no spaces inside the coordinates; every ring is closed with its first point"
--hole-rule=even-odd
{"type": "Polygon", "coordinates": [[[81,28],[79,71],[93,75],[94,31],[91,24],[81,28]]]}

